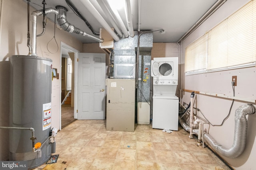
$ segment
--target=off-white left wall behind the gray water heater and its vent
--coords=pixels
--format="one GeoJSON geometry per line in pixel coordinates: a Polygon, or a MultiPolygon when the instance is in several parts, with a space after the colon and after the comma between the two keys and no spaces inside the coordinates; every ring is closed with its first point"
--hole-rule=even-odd
{"type": "MultiPolygon", "coordinates": [[[[27,55],[27,4],[23,0],[0,0],[0,126],[9,122],[9,57],[27,55]]],[[[30,8],[30,12],[34,11],[30,8]]],[[[48,14],[54,15],[54,14],[48,14]]],[[[42,17],[38,18],[38,34],[42,32],[42,17]]],[[[46,32],[37,39],[39,57],[52,59],[53,68],[60,70],[60,41],[82,51],[83,44],[68,32],[56,28],[56,41],[47,43],[54,36],[54,23],[48,20],[46,32]]],[[[58,71],[59,72],[59,71],[58,71]]],[[[60,127],[60,79],[52,81],[52,127],[60,127]]],[[[0,129],[0,160],[8,160],[8,131],[0,129]]]]}

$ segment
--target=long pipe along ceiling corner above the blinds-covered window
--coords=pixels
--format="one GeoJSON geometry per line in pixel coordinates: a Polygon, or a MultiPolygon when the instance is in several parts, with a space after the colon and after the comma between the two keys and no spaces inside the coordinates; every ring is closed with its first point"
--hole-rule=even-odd
{"type": "Polygon", "coordinates": [[[188,37],[197,27],[199,27],[207,18],[209,18],[222,4],[227,0],[218,0],[179,40],[177,43],[180,43],[183,39],[188,37]]]}

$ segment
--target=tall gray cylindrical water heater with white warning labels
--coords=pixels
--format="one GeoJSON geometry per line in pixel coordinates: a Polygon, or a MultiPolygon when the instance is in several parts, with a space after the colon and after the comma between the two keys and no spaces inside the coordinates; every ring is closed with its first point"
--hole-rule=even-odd
{"type": "Polygon", "coordinates": [[[51,156],[52,60],[36,56],[10,57],[10,127],[32,127],[31,132],[10,130],[10,160],[28,161],[28,169],[42,165],[51,156]],[[40,146],[41,145],[41,146],[40,146]]]}

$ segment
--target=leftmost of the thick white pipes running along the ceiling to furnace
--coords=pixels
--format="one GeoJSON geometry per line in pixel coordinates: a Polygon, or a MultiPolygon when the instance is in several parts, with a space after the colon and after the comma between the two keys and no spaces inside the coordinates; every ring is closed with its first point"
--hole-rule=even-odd
{"type": "Polygon", "coordinates": [[[108,31],[108,33],[113,37],[115,41],[119,41],[119,37],[116,33],[111,29],[108,23],[102,18],[100,13],[94,8],[92,3],[89,0],[79,0],[86,8],[90,11],[90,13],[100,22],[100,24],[108,31]]]}

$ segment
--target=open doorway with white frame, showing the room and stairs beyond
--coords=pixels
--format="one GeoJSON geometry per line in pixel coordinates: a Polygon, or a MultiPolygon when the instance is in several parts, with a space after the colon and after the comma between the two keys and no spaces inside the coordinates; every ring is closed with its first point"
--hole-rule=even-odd
{"type": "Polygon", "coordinates": [[[78,51],[61,42],[60,57],[60,130],[77,119],[77,58],[78,51]]]}

